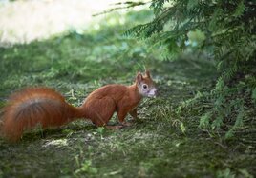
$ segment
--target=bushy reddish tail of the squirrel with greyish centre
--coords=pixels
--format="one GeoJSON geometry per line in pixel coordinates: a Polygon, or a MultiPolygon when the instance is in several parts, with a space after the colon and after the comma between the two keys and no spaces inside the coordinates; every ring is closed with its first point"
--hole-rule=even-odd
{"type": "Polygon", "coordinates": [[[11,95],[0,120],[2,136],[16,141],[23,130],[36,126],[58,127],[79,117],[79,110],[66,103],[53,89],[24,89],[11,95]]]}

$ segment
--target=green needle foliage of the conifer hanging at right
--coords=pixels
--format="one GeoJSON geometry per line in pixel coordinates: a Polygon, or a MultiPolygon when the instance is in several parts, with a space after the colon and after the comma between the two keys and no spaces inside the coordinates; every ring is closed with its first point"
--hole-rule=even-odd
{"type": "MultiPolygon", "coordinates": [[[[255,108],[256,2],[253,0],[152,0],[155,18],[126,31],[149,38],[173,60],[190,51],[215,60],[215,88],[183,102],[178,112],[207,101],[200,113],[203,129],[228,130],[230,138],[255,108]]],[[[255,114],[255,113],[254,113],[255,114]]],[[[252,118],[252,117],[251,117],[252,118]]]]}

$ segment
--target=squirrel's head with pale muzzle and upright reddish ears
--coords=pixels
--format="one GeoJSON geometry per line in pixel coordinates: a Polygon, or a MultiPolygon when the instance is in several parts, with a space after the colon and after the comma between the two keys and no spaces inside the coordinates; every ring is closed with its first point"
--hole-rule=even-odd
{"type": "Polygon", "coordinates": [[[154,85],[154,81],[151,78],[149,70],[146,70],[144,75],[140,72],[137,74],[136,85],[142,96],[156,97],[158,89],[156,89],[154,85]]]}

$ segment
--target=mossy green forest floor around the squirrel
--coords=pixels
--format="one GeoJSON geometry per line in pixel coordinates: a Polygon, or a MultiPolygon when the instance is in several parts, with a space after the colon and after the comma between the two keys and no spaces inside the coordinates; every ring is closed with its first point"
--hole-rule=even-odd
{"type": "MultiPolygon", "coordinates": [[[[156,99],[141,102],[139,120],[131,127],[103,129],[76,121],[60,129],[27,131],[14,144],[0,139],[0,177],[256,175],[255,143],[242,142],[240,135],[225,141],[223,135],[199,129],[199,115],[175,110],[214,86],[213,62],[190,56],[160,61],[160,50],[148,53],[150,44],[121,35],[148,15],[131,12],[125,25],[116,19],[111,27],[102,22],[97,30],[70,30],[0,49],[1,108],[13,91],[28,86],[51,87],[79,106],[100,86],[131,84],[144,66],[160,90],[156,99]]],[[[111,124],[117,124],[116,115],[111,124]]]]}

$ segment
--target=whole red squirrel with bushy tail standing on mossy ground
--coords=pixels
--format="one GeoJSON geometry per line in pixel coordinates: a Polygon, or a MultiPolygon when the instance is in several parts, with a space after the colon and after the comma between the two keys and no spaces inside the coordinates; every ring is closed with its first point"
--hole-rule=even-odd
{"type": "Polygon", "coordinates": [[[77,108],[66,103],[65,98],[53,89],[24,89],[11,95],[0,120],[0,133],[17,141],[25,129],[38,125],[42,128],[59,127],[81,118],[91,120],[97,127],[119,129],[129,126],[125,122],[128,113],[137,119],[137,107],[142,97],[155,97],[156,94],[148,70],[145,75],[138,73],[131,86],[112,84],[96,89],[77,108]],[[115,111],[121,125],[108,126],[115,111]]]}

